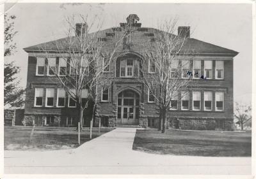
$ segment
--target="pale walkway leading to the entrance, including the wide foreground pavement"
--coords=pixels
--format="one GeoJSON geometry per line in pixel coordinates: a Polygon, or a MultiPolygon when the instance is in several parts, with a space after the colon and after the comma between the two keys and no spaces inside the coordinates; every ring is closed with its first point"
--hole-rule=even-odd
{"type": "Polygon", "coordinates": [[[4,152],[6,174],[250,175],[250,157],[188,157],[132,150],[136,129],[117,128],[70,150],[4,152]]]}

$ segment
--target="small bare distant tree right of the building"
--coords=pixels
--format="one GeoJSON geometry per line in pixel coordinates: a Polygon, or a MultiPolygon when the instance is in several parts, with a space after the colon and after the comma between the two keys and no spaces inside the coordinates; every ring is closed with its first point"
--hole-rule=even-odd
{"type": "Polygon", "coordinates": [[[241,127],[243,131],[244,124],[248,122],[252,122],[252,107],[251,106],[242,106],[239,103],[236,103],[236,110],[234,113],[234,117],[238,120],[236,124],[241,127]]]}

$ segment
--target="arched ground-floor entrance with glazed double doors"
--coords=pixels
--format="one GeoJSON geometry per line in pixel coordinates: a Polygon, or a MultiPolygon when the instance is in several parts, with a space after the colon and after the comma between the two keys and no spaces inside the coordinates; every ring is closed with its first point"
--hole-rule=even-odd
{"type": "Polygon", "coordinates": [[[124,90],[118,94],[118,124],[139,124],[140,95],[133,90],[124,90]]]}

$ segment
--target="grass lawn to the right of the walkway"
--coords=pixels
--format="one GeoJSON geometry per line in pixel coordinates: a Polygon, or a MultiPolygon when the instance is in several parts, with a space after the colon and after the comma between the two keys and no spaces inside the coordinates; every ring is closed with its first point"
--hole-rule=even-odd
{"type": "Polygon", "coordinates": [[[156,154],[249,157],[252,132],[137,130],[133,150],[156,154]]]}

